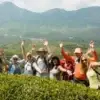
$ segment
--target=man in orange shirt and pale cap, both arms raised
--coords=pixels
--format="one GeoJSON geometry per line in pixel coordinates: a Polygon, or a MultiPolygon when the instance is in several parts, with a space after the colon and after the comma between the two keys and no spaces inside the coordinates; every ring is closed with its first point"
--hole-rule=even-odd
{"type": "MultiPolygon", "coordinates": [[[[89,84],[87,83],[87,76],[86,71],[84,69],[83,64],[81,63],[81,57],[83,56],[83,52],[81,48],[76,48],[74,51],[75,56],[70,56],[68,53],[64,51],[63,44],[60,44],[61,47],[61,53],[63,57],[66,59],[66,61],[71,61],[75,64],[74,73],[73,73],[73,81],[75,83],[82,83],[86,86],[89,84]]],[[[89,52],[90,50],[88,50],[89,52]]],[[[90,61],[97,61],[97,53],[95,50],[91,52],[92,57],[88,57],[89,62],[90,61]]],[[[88,55],[88,53],[87,53],[88,55]]]]}

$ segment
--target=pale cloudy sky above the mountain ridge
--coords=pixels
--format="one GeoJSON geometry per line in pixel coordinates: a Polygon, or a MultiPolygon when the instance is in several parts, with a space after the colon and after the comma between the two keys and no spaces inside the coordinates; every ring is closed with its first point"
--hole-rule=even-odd
{"type": "Polygon", "coordinates": [[[71,11],[90,6],[100,6],[100,0],[0,0],[0,3],[6,1],[33,12],[44,12],[53,8],[71,11]]]}

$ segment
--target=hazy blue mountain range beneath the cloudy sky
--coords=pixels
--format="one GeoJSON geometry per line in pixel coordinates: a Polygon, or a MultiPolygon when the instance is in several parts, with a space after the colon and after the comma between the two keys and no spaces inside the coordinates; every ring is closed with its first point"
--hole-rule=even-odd
{"type": "Polygon", "coordinates": [[[100,7],[83,8],[77,11],[66,11],[55,8],[43,13],[35,13],[6,2],[0,4],[0,22],[5,21],[61,24],[69,27],[100,26],[100,7]]]}

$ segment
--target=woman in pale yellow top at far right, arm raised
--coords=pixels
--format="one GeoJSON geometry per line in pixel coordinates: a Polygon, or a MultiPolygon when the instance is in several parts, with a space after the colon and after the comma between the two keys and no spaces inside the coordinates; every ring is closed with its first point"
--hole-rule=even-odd
{"type": "MultiPolygon", "coordinates": [[[[93,54],[94,42],[90,42],[90,50],[86,54],[93,54]]],[[[96,52],[95,52],[95,55],[96,52]]],[[[87,78],[89,80],[89,87],[94,89],[100,89],[100,62],[97,62],[97,56],[91,59],[90,65],[87,70],[87,78]],[[99,77],[98,77],[99,76],[99,77]]]]}

